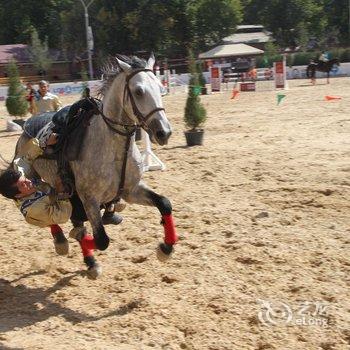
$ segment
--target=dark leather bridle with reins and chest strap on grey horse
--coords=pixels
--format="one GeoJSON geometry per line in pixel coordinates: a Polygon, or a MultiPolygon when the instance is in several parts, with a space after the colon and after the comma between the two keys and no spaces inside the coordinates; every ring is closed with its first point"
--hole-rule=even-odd
{"type": "MultiPolygon", "coordinates": [[[[125,78],[125,88],[124,88],[124,97],[123,97],[123,104],[124,105],[125,105],[127,99],[128,98],[130,99],[133,113],[136,116],[139,124],[136,124],[136,123],[134,123],[134,124],[122,124],[122,123],[116,122],[115,120],[108,118],[103,113],[103,111],[100,109],[96,99],[91,98],[91,97],[89,98],[89,101],[94,106],[94,108],[93,108],[94,113],[100,114],[102,116],[102,119],[104,120],[104,122],[106,123],[108,128],[110,130],[112,130],[114,133],[117,133],[119,135],[126,137],[126,142],[125,142],[125,147],[124,147],[123,165],[122,165],[121,174],[120,174],[120,182],[119,182],[119,186],[118,186],[118,192],[117,192],[117,196],[111,201],[111,203],[119,202],[121,199],[121,196],[124,192],[125,172],[126,172],[126,163],[127,163],[127,159],[128,159],[128,150],[130,148],[131,138],[135,134],[136,129],[138,127],[142,127],[144,130],[149,129],[149,127],[147,125],[147,121],[149,120],[149,118],[154,113],[165,110],[163,107],[156,107],[144,116],[142,114],[142,112],[139,110],[139,108],[137,107],[134,96],[133,96],[131,89],[130,89],[130,86],[129,86],[129,82],[136,74],[138,74],[140,72],[152,72],[153,73],[153,70],[148,69],[148,68],[139,68],[139,69],[133,70],[129,75],[127,75],[125,78]],[[116,126],[124,127],[125,131],[117,129],[116,126]]],[[[123,111],[129,119],[132,119],[132,118],[130,118],[128,113],[126,113],[124,106],[123,106],[123,111]]]]}

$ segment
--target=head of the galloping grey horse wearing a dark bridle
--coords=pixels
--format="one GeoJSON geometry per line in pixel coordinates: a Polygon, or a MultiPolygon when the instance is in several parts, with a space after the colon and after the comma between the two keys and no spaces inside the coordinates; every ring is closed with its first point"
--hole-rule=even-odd
{"type": "Polygon", "coordinates": [[[171,126],[163,108],[160,82],[153,73],[153,54],[147,62],[127,61],[124,57],[116,60],[125,79],[124,111],[148,132],[153,142],[167,144],[171,126]]]}

